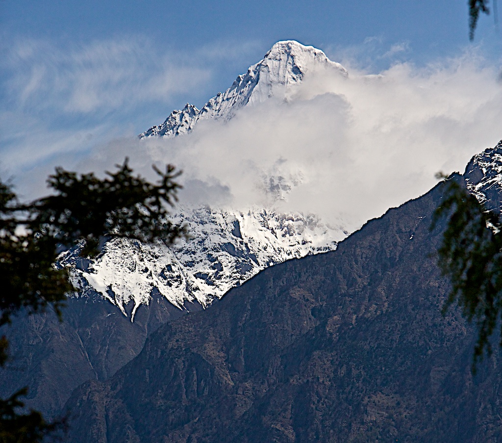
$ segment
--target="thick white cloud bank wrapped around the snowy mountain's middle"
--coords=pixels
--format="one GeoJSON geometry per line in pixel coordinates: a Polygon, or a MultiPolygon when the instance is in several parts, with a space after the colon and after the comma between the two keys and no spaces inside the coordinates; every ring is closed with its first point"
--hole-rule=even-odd
{"type": "Polygon", "coordinates": [[[462,172],[502,138],[501,123],[496,70],[465,55],[378,76],[319,74],[287,103],[270,99],[175,139],[116,141],[98,157],[105,167],[129,155],[144,173],[173,163],[184,170],[182,201],[239,208],[266,203],[264,177],[283,176],[297,184],[284,210],[353,229],[428,191],[439,170],[462,172]]]}

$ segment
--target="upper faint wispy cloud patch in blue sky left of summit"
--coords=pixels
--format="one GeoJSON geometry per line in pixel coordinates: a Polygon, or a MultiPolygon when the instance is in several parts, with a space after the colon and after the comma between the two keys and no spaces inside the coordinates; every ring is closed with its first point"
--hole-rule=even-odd
{"type": "Polygon", "coordinates": [[[16,71],[5,89],[18,106],[77,114],[166,101],[200,87],[211,74],[186,55],[159,54],[148,40],[134,37],[69,46],[20,40],[3,68],[16,71]]]}

